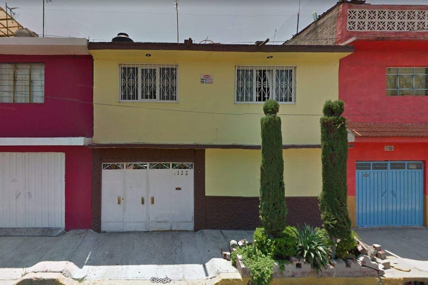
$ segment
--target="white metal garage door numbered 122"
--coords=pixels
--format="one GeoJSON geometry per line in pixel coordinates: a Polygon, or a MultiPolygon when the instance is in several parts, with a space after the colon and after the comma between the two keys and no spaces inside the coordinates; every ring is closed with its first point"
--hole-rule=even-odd
{"type": "Polygon", "coordinates": [[[105,163],[101,230],[193,230],[193,163],[105,163]]]}

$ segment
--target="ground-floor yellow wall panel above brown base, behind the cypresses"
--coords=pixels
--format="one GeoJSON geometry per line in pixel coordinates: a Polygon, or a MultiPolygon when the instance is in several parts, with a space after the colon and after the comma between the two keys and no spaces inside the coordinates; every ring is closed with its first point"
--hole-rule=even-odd
{"type": "MultiPolygon", "coordinates": [[[[285,196],[321,193],[321,149],[285,149],[285,196]]],[[[207,149],[207,196],[254,197],[260,193],[260,150],[207,149]]]]}

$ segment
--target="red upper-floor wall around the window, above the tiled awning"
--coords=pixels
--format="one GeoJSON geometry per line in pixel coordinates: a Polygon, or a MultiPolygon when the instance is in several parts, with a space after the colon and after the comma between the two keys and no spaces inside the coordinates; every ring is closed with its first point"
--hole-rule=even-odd
{"type": "Polygon", "coordinates": [[[428,41],[354,44],[355,52],[339,67],[339,98],[348,120],[427,123],[428,96],[386,96],[386,67],[428,67],[428,41]]]}

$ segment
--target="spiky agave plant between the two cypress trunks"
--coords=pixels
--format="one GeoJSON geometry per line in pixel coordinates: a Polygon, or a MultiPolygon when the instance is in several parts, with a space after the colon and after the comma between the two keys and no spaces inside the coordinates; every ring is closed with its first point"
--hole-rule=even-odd
{"type": "Polygon", "coordinates": [[[327,268],[329,264],[330,250],[328,244],[318,228],[309,225],[297,228],[297,246],[295,255],[302,258],[311,265],[317,272],[322,268],[327,268]]]}

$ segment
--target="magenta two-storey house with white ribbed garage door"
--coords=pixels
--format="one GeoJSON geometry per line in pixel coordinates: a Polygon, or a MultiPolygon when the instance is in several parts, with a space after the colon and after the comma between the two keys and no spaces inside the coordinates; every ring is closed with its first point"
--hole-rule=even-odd
{"type": "Polygon", "coordinates": [[[0,38],[0,231],[90,228],[92,110],[86,39],[0,38]]]}

